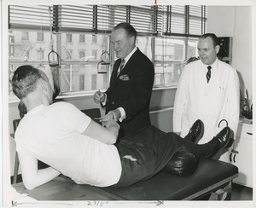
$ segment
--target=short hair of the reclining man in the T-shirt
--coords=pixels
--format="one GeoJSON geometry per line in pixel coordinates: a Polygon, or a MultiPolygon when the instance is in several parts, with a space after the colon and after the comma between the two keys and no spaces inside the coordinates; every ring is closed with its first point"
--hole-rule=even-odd
{"type": "Polygon", "coordinates": [[[24,65],[16,69],[12,78],[12,88],[15,95],[22,99],[37,89],[38,80],[48,82],[45,73],[34,66],[24,65]]]}

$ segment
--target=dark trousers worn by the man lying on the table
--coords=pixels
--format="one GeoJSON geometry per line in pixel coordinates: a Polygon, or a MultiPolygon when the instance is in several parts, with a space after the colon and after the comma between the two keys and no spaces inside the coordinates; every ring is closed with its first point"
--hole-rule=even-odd
{"type": "Polygon", "coordinates": [[[172,156],[183,151],[183,139],[174,133],[160,137],[137,138],[137,141],[122,140],[116,147],[122,165],[119,182],[114,188],[130,186],[133,183],[151,178],[163,170],[172,156]]]}

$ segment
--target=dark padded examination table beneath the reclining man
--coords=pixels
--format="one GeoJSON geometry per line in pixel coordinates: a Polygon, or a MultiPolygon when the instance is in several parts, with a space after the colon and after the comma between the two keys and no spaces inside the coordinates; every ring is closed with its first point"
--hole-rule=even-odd
{"type": "MultiPolygon", "coordinates": [[[[137,132],[132,139],[147,140],[150,136],[162,136],[165,132],[148,126],[137,132]]],[[[38,200],[204,200],[210,196],[216,199],[231,198],[232,180],[238,175],[238,168],[215,159],[201,159],[191,176],[173,176],[164,171],[151,179],[137,182],[127,188],[96,188],[78,185],[66,176],[57,176],[51,182],[26,190],[23,183],[13,187],[20,194],[28,194],[38,200]]],[[[210,198],[211,199],[211,198],[210,198]]]]}

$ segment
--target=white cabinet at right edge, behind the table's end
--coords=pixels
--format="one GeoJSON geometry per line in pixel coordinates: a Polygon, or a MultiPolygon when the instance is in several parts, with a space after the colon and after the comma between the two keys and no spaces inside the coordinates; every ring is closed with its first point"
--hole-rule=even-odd
{"type": "Polygon", "coordinates": [[[230,163],[239,169],[234,182],[253,188],[253,124],[252,120],[241,118],[234,148],[230,152],[230,163]]]}

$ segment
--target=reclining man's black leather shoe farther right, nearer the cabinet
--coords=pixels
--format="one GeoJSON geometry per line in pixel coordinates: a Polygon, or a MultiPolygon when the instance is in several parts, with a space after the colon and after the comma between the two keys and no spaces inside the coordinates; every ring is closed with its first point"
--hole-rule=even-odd
{"type": "Polygon", "coordinates": [[[210,142],[206,145],[211,145],[210,153],[207,154],[206,158],[213,158],[219,150],[223,148],[229,148],[234,142],[234,139],[230,138],[231,130],[230,127],[226,126],[221,130],[217,136],[214,136],[210,142]]]}

